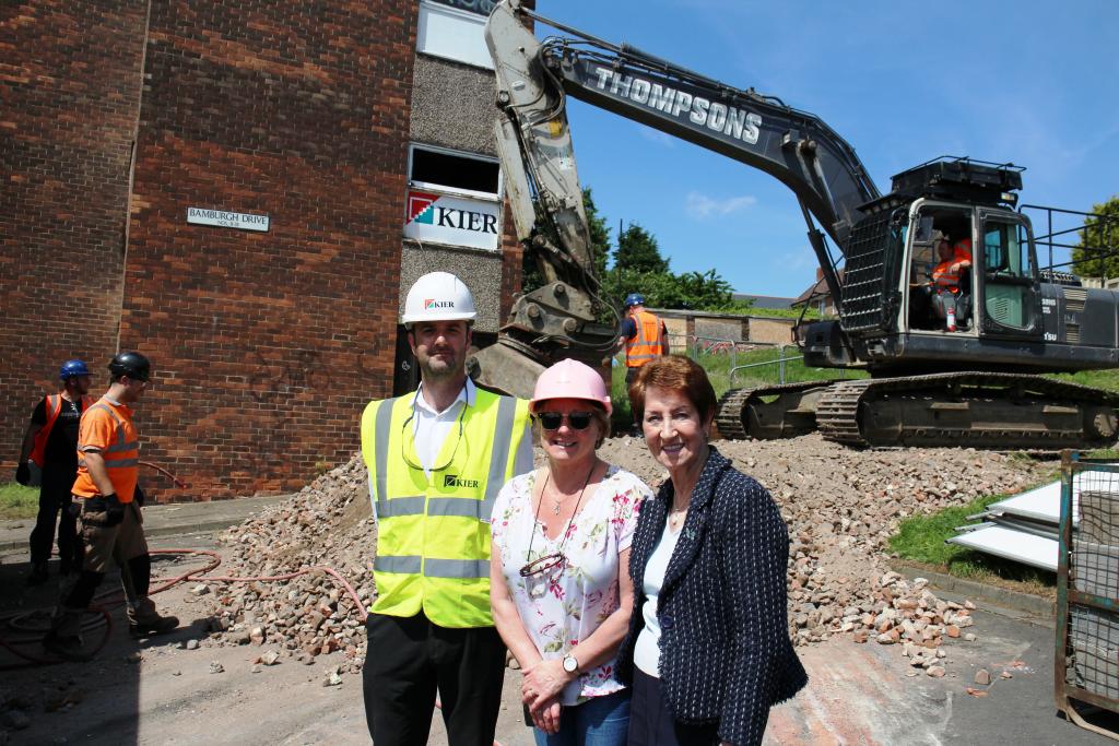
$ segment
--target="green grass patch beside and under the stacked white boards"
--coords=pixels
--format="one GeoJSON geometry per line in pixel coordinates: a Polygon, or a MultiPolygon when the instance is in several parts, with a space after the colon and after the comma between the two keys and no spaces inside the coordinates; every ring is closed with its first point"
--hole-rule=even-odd
{"type": "Polygon", "coordinates": [[[982,512],[987,506],[1005,497],[989,495],[966,506],[906,518],[897,527],[897,533],[890,537],[890,548],[902,559],[955,577],[1052,596],[1056,587],[1056,576],[1053,573],[944,542],[956,536],[956,527],[974,522],[968,520],[968,516],[982,512]]]}

